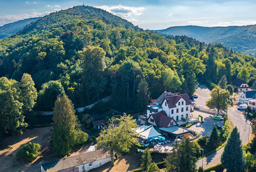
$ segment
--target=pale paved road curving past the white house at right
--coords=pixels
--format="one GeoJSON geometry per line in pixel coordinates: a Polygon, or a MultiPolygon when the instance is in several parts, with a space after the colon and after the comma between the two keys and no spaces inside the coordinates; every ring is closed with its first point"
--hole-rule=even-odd
{"type": "MultiPolygon", "coordinates": [[[[204,106],[204,101],[207,101],[207,99],[211,98],[209,96],[210,91],[205,88],[203,85],[202,88],[198,88],[196,90],[196,94],[198,94],[198,99],[196,99],[196,106],[202,105],[204,106]],[[200,97],[202,96],[202,97],[200,97]],[[197,104],[200,103],[200,104],[197,104]]],[[[206,106],[204,106],[206,108],[206,106]]],[[[252,128],[250,127],[249,123],[246,122],[243,112],[237,110],[237,106],[233,106],[228,109],[228,118],[233,122],[234,126],[238,128],[238,131],[240,133],[240,137],[242,140],[243,145],[246,145],[248,143],[248,138],[250,135],[250,132],[252,131],[252,128]]],[[[196,162],[196,166],[202,166],[202,160],[204,162],[204,168],[209,168],[211,166],[214,166],[218,163],[220,163],[221,154],[223,153],[224,147],[215,152],[212,155],[209,155],[208,157],[205,157],[204,159],[200,159],[198,162],[196,162]]]]}

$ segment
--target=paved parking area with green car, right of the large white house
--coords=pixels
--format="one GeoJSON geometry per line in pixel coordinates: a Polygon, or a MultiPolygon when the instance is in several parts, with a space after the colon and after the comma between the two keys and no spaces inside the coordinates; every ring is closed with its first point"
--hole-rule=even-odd
{"type": "Polygon", "coordinates": [[[196,133],[201,133],[202,136],[210,136],[212,131],[212,125],[216,124],[220,125],[221,127],[224,125],[223,120],[214,120],[214,115],[211,115],[209,113],[194,110],[191,115],[193,115],[193,117],[198,117],[198,115],[202,115],[204,121],[203,123],[201,123],[201,118],[199,118],[200,122],[188,128],[189,130],[195,131],[196,133]]]}

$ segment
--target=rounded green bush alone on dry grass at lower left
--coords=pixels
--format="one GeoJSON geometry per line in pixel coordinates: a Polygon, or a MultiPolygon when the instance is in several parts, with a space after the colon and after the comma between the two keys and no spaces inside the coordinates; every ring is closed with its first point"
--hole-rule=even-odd
{"type": "Polygon", "coordinates": [[[41,145],[38,143],[29,142],[27,145],[23,145],[19,148],[16,157],[23,161],[32,161],[38,157],[41,151],[41,145]]]}

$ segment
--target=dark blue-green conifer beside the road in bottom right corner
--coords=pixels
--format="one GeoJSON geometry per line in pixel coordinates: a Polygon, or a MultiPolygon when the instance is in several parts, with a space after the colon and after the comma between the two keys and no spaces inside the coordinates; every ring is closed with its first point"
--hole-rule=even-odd
{"type": "Polygon", "coordinates": [[[245,161],[240,134],[235,127],[230,134],[227,145],[221,155],[222,165],[227,171],[244,171],[245,161]]]}

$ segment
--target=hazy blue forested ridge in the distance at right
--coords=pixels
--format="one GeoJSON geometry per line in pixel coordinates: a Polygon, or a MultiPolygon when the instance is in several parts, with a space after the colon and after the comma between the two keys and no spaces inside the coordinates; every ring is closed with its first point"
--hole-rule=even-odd
{"type": "Polygon", "coordinates": [[[256,25],[228,27],[200,27],[195,25],[157,30],[163,34],[186,35],[205,43],[221,43],[236,52],[256,57],[256,25]]]}

